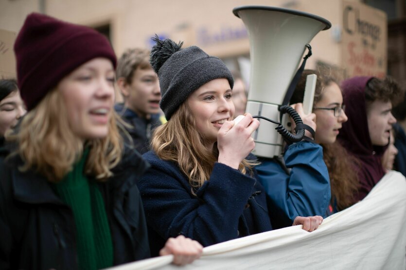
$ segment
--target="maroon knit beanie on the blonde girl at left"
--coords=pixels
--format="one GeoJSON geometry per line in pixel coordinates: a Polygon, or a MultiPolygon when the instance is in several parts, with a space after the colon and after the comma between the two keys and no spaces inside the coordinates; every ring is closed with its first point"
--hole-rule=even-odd
{"type": "Polygon", "coordinates": [[[107,38],[99,32],[38,13],[25,19],[14,51],[18,88],[28,111],[81,64],[105,57],[115,68],[117,61],[107,38]]]}

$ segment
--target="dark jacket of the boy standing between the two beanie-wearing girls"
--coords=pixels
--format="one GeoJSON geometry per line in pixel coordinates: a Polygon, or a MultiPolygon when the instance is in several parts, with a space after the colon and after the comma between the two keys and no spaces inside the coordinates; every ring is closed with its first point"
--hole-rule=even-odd
{"type": "MultiPolygon", "coordinates": [[[[161,125],[159,113],[151,114],[150,119],[145,119],[135,111],[125,108],[122,103],[116,104],[114,110],[127,124],[130,124],[131,127],[125,127],[125,129],[132,138],[134,148],[141,154],[148,152],[152,131],[161,125]]],[[[126,139],[125,136],[124,139],[126,139]]]]}

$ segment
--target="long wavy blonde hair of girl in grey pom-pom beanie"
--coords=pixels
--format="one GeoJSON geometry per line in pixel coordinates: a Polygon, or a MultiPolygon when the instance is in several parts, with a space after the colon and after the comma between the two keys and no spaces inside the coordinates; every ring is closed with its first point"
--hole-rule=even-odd
{"type": "MultiPolygon", "coordinates": [[[[196,130],[194,117],[186,102],[171,116],[164,125],[157,127],[152,136],[151,146],[157,156],[163,160],[174,161],[189,178],[192,193],[199,189],[212,174],[218,158],[217,143],[207,148],[206,139],[196,130]]],[[[252,176],[252,167],[258,162],[244,159],[239,171],[252,176]]]]}

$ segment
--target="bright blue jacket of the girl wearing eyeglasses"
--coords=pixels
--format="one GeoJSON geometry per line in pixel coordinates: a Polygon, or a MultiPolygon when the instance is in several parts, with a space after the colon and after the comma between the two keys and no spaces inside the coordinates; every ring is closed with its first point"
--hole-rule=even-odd
{"type": "Polygon", "coordinates": [[[291,144],[283,159],[284,164],[262,158],[259,159],[262,163],[255,167],[270,204],[279,210],[275,213],[278,218],[272,219],[279,225],[272,223],[273,226],[291,225],[297,216],[326,217],[331,191],[322,147],[309,142],[291,144]]]}

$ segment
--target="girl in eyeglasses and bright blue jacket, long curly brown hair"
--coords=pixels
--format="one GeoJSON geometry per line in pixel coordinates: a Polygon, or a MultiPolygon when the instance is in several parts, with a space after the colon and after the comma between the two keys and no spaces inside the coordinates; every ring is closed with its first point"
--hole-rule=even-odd
{"type": "Polygon", "coordinates": [[[290,219],[295,214],[326,217],[351,206],[353,193],[357,189],[354,181],[356,175],[347,169],[351,160],[347,159],[345,149],[336,142],[347,115],[341,90],[335,80],[315,70],[304,70],[290,103],[298,112],[302,112],[306,77],[310,74],[318,76],[313,103],[317,127],[314,143],[303,143],[301,155],[293,156],[288,148],[283,159],[261,160],[262,164],[256,168],[269,197],[280,207],[282,216],[290,219]],[[293,159],[297,159],[295,164],[293,159]],[[318,174],[320,162],[327,166],[330,181],[324,181],[318,174]],[[276,183],[269,176],[278,170],[286,175],[284,183],[276,183]],[[286,197],[284,205],[278,203],[281,196],[286,197]]]}

